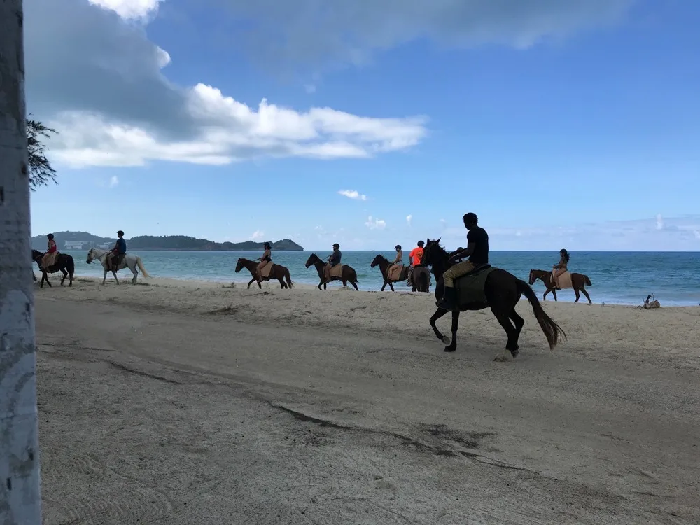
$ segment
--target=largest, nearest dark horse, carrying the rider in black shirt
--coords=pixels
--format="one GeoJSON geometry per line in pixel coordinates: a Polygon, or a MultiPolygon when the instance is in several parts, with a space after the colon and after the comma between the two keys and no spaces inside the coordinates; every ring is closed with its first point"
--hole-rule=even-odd
{"type": "MultiPolygon", "coordinates": [[[[437,241],[431,241],[428,239],[426,247],[423,250],[423,259],[421,261],[423,265],[431,265],[433,267],[433,274],[437,280],[437,286],[435,287],[435,297],[439,300],[442,297],[444,290],[444,283],[442,282],[442,274],[451,267],[449,262],[449,254],[442,249],[440,246],[440,239],[437,241]]],[[[547,337],[547,342],[549,343],[549,349],[553,350],[554,346],[559,343],[561,338],[566,339],[566,334],[559,328],[552,318],[550,318],[547,313],[542,309],[542,305],[537,299],[537,295],[528,283],[521,281],[513,274],[506,272],[505,269],[496,268],[486,277],[486,283],[484,284],[484,295],[486,295],[487,304],[477,304],[473,309],[484,309],[486,307],[491,307],[493,315],[496,316],[496,320],[503,326],[503,330],[508,336],[508,342],[505,348],[510,351],[513,358],[518,355],[519,346],[518,339],[520,337],[520,332],[525,324],[524,319],[517,314],[515,311],[515,305],[520,300],[521,295],[525,295],[532,305],[533,313],[538,323],[540,323],[540,328],[542,332],[545,333],[547,337]],[[511,323],[511,321],[515,324],[511,323]]],[[[471,308],[465,308],[465,311],[471,308]]],[[[452,340],[450,342],[449,337],[444,336],[437,330],[435,326],[435,321],[437,319],[447,314],[447,310],[438,308],[435,314],[430,318],[430,326],[433,327],[433,332],[445,344],[449,343],[448,346],[444,347],[444,351],[453,352],[457,347],[457,328],[459,325],[459,312],[452,312],[452,340]]],[[[498,358],[497,358],[498,359],[498,358]]]]}

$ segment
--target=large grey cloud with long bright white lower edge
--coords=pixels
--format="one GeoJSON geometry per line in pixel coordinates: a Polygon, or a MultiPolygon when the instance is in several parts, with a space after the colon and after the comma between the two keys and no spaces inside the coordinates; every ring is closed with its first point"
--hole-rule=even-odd
{"type": "Polygon", "coordinates": [[[261,157],[370,158],[411,148],[426,118],[250,107],[211,85],[179,86],[148,40],[156,0],[32,0],[25,6],[27,101],[59,130],[51,155],[74,167],[151,160],[223,165],[261,157]],[[118,13],[119,16],[113,12],[118,13]],[[122,18],[120,18],[122,17],[122,18]],[[145,22],[144,22],[145,23],[145,22]]]}

